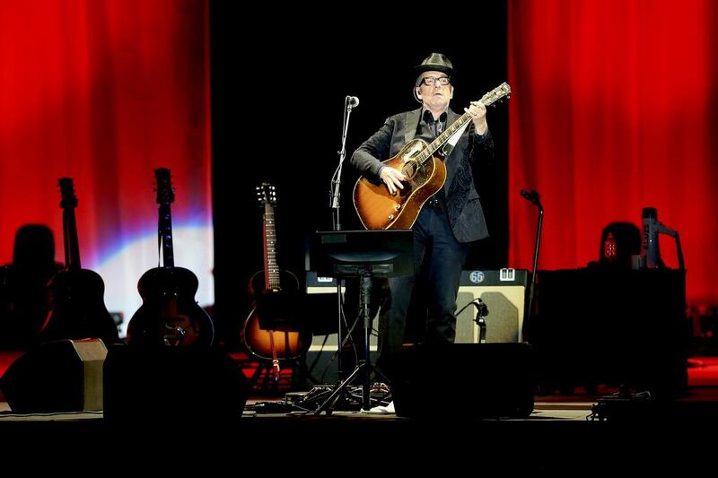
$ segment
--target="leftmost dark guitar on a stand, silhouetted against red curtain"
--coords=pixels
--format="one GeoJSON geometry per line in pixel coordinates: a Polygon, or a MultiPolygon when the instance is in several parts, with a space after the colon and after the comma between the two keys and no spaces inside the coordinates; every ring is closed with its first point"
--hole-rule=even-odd
{"type": "Polygon", "coordinates": [[[106,344],[117,343],[118,328],[104,302],[105,282],[100,274],[83,269],[80,264],[73,180],[60,178],[59,186],[65,269],[58,271],[48,283],[50,312],[42,326],[40,342],[100,338],[106,344]]]}

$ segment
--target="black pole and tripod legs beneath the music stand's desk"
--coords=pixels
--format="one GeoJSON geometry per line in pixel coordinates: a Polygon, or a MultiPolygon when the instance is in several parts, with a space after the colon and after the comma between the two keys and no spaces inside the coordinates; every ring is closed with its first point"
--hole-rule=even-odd
{"type": "MultiPolygon", "coordinates": [[[[360,272],[359,282],[359,314],[363,319],[364,329],[364,354],[363,358],[360,358],[354,371],[344,381],[340,381],[337,388],[328,396],[327,400],[317,408],[314,412],[315,415],[320,415],[323,411],[327,411],[327,414],[331,414],[334,406],[337,404],[339,396],[343,393],[350,393],[349,386],[354,383],[355,378],[362,379],[362,409],[368,411],[371,408],[372,396],[370,390],[370,380],[372,370],[375,374],[379,375],[385,382],[389,380],[381,374],[381,371],[375,369],[372,366],[372,361],[369,355],[369,338],[372,334],[372,317],[369,314],[370,295],[372,291],[372,273],[370,268],[366,268],[360,272]]],[[[339,343],[340,353],[342,344],[339,343]]]]}

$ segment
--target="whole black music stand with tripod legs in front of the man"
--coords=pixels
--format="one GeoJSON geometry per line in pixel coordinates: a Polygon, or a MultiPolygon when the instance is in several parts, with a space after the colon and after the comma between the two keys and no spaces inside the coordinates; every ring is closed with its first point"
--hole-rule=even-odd
{"type": "MultiPolygon", "coordinates": [[[[414,271],[414,235],[411,230],[331,230],[318,231],[312,242],[311,269],[318,275],[335,277],[359,277],[359,314],[363,319],[364,355],[354,371],[341,381],[328,399],[320,404],[315,414],[333,404],[338,395],[363,372],[362,408],[370,408],[369,380],[373,369],[369,356],[369,338],[372,333],[372,317],[369,315],[370,293],[373,277],[396,277],[414,271]]],[[[337,348],[341,353],[341,323],[339,324],[337,348]]]]}

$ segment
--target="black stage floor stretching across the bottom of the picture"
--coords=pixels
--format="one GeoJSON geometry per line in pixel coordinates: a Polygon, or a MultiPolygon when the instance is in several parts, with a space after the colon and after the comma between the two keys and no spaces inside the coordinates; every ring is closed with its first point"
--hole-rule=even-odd
{"type": "Polygon", "coordinates": [[[537,396],[529,417],[511,419],[478,419],[471,410],[431,419],[338,410],[319,416],[253,413],[252,399],[240,419],[188,421],[198,411],[187,404],[187,415],[171,421],[125,424],[109,424],[101,412],[13,414],[2,404],[0,440],[5,463],[29,453],[38,457],[35,465],[50,465],[46,458],[59,456],[101,465],[144,460],[166,471],[231,466],[246,473],[260,467],[271,475],[299,467],[321,475],[646,476],[714,470],[718,387],[691,387],[661,403],[629,400],[593,416],[598,398],[537,396]]]}

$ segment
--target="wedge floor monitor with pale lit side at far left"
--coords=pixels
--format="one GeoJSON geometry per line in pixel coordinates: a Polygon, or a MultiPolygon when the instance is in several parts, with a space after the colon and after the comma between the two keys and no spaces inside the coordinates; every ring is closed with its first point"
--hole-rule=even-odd
{"type": "Polygon", "coordinates": [[[100,339],[45,343],[5,370],[0,389],[14,413],[101,410],[106,355],[100,339]]]}

